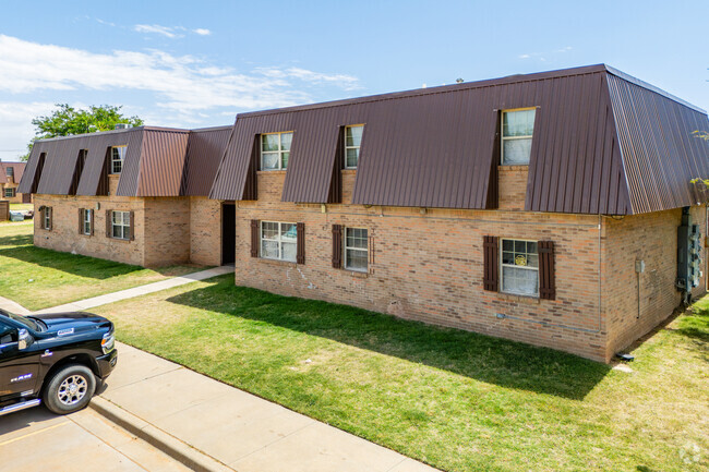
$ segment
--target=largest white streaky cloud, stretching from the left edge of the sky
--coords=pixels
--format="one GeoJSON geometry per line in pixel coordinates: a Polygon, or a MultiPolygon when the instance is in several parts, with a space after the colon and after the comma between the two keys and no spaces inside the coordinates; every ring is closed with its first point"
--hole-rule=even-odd
{"type": "Polygon", "coordinates": [[[358,87],[346,74],[301,68],[263,68],[249,73],[216,66],[192,56],[159,50],[93,53],[0,35],[0,92],[153,92],[157,107],[190,113],[214,108],[257,109],[310,101],[304,89],[328,84],[358,87]]]}

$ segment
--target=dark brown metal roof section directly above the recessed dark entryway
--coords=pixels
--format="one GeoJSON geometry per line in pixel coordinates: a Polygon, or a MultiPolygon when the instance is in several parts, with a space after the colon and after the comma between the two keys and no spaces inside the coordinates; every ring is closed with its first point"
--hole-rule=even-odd
{"type": "Polygon", "coordinates": [[[209,194],[231,130],[232,126],[228,125],[190,132],[181,195],[207,196],[209,194]]]}

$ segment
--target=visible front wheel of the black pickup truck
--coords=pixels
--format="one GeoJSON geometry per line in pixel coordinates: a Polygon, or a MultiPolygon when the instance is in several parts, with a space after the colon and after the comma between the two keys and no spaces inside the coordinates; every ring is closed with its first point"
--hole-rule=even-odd
{"type": "Polygon", "coordinates": [[[96,390],[94,373],[83,365],[69,365],[57,372],[45,389],[45,404],[56,414],[68,414],[86,407],[96,390]]]}

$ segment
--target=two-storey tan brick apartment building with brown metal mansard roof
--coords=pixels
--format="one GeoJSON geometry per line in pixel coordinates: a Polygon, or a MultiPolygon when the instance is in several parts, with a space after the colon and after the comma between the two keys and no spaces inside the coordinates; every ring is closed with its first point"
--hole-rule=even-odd
{"type": "MultiPolygon", "coordinates": [[[[705,293],[706,129],[704,110],[593,65],[242,113],[208,152],[200,132],[99,133],[145,135],[106,194],[88,160],[76,173],[92,146],[38,142],[22,185],[38,245],[233,259],[237,285],[608,362],[705,293]],[[73,186],[40,169],[61,156],[73,186]],[[99,203],[127,214],[96,213],[106,234],[82,243],[80,209],[99,203]]],[[[117,144],[97,145],[106,169],[117,144]]]]}

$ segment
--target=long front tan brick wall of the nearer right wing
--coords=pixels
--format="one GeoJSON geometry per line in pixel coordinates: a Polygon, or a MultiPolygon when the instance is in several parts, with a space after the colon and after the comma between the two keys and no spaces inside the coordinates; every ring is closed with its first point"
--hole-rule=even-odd
{"type": "MultiPolygon", "coordinates": [[[[353,172],[344,178],[344,202],[353,172]]],[[[298,205],[280,202],[283,172],[259,173],[259,201],[237,209],[236,282],[286,295],[322,299],[396,316],[476,330],[605,360],[599,326],[599,218],[596,216],[298,205]],[[305,264],[250,256],[250,220],[305,223],[305,264]],[[334,269],[332,225],[364,227],[369,274],[334,269]],[[484,235],[553,240],[557,299],[482,289],[484,235]],[[505,318],[497,318],[497,314],[505,318]]]]}

